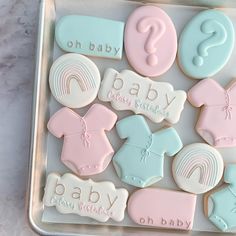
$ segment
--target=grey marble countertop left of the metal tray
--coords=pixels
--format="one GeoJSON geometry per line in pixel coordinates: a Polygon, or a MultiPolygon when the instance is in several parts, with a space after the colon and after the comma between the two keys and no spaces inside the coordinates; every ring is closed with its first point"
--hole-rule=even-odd
{"type": "Polygon", "coordinates": [[[36,235],[27,223],[31,103],[39,0],[0,0],[0,235],[36,235]]]}

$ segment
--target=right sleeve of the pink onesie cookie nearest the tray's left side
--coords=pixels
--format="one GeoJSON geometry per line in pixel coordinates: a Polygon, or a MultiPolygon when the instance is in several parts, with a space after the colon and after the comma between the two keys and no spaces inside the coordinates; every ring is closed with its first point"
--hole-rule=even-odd
{"type": "Polygon", "coordinates": [[[114,127],[117,121],[117,115],[113,111],[101,104],[94,104],[92,110],[96,123],[102,129],[111,130],[114,127]]]}

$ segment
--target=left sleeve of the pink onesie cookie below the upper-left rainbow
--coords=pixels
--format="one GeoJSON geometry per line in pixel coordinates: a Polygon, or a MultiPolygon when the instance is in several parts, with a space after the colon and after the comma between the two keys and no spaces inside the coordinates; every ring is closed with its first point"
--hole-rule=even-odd
{"type": "Polygon", "coordinates": [[[48,130],[57,138],[61,138],[64,135],[66,129],[66,118],[68,108],[62,108],[56,112],[48,121],[48,130]]]}

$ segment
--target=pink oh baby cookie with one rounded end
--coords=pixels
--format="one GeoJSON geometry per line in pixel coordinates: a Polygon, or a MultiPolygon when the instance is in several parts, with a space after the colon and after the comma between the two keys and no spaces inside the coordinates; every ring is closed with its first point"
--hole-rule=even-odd
{"type": "Polygon", "coordinates": [[[139,225],[191,230],[196,195],[158,188],[141,189],[128,201],[130,218],[139,225]]]}

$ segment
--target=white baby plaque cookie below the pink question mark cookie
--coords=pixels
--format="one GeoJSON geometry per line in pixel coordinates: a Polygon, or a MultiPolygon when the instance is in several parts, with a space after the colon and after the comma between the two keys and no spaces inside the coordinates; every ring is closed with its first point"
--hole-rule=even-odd
{"type": "Polygon", "coordinates": [[[101,101],[111,102],[116,110],[131,110],[159,123],[179,121],[186,93],[171,84],[156,82],[131,70],[120,73],[107,69],[98,92],[101,101]]]}

